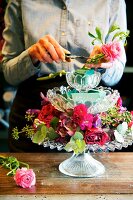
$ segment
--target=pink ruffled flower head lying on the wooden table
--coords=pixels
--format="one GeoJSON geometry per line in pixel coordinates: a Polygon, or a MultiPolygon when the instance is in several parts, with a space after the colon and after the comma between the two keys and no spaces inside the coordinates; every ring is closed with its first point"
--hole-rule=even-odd
{"type": "Polygon", "coordinates": [[[25,167],[17,169],[16,174],[14,176],[14,180],[17,185],[23,188],[30,188],[36,183],[36,177],[33,170],[27,169],[25,167]]]}

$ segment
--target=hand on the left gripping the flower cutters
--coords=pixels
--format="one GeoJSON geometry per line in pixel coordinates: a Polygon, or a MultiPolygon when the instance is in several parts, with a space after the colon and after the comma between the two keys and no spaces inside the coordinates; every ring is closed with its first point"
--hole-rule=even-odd
{"type": "Polygon", "coordinates": [[[51,35],[45,35],[36,44],[32,45],[28,52],[34,64],[37,61],[44,63],[65,62],[65,53],[70,53],[61,47],[51,35]]]}

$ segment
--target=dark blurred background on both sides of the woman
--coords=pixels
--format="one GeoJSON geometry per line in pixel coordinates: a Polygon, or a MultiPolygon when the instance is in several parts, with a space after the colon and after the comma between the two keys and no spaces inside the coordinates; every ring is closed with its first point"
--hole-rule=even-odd
{"type": "MultiPolygon", "coordinates": [[[[7,2],[8,0],[0,0],[0,66],[2,59],[1,49],[4,42],[2,38],[4,28],[3,17],[7,2]]],[[[119,90],[123,99],[123,106],[126,106],[129,110],[133,110],[133,1],[125,0],[125,2],[127,6],[127,25],[130,30],[130,37],[127,39],[128,45],[126,46],[127,63],[121,81],[113,89],[119,90]]],[[[8,117],[16,89],[4,80],[3,74],[0,71],[0,152],[9,151],[7,144],[8,117]]]]}

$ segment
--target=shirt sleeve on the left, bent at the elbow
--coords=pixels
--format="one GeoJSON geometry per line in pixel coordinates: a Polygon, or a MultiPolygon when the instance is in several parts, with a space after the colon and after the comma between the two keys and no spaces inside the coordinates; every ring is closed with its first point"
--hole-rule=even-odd
{"type": "Polygon", "coordinates": [[[20,1],[10,1],[8,4],[5,27],[3,31],[5,43],[2,49],[3,73],[7,82],[18,85],[39,71],[33,65],[28,50],[25,50],[20,1]]]}

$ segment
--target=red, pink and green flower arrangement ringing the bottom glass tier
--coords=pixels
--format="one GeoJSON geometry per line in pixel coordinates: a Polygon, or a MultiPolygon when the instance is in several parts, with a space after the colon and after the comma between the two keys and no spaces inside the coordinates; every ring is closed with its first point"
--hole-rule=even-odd
{"type": "Polygon", "coordinates": [[[52,141],[62,144],[68,152],[79,154],[88,145],[103,146],[111,141],[123,143],[126,136],[133,138],[133,112],[122,106],[121,98],[108,111],[92,114],[85,104],[62,107],[61,111],[42,93],[41,97],[41,110],[27,110],[25,117],[29,124],[22,130],[14,128],[14,139],[26,133],[33,143],[52,141]]]}

